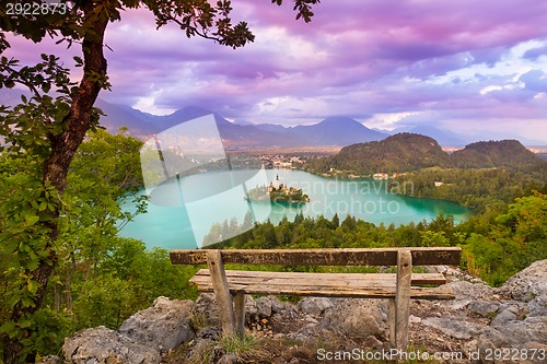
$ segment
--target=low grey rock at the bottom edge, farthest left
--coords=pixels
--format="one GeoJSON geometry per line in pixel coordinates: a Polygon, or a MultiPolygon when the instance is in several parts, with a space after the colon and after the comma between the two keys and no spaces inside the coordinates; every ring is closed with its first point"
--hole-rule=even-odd
{"type": "Polygon", "coordinates": [[[67,364],[155,364],[161,360],[156,348],[135,342],[104,326],[67,338],[62,352],[67,364]]]}

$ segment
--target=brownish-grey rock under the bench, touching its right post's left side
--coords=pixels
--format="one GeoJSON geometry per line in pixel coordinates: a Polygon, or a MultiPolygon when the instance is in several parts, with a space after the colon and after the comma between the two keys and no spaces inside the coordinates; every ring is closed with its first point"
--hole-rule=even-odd
{"type": "Polygon", "coordinates": [[[354,338],[385,337],[387,309],[385,300],[340,300],[325,313],[322,326],[354,338]]]}

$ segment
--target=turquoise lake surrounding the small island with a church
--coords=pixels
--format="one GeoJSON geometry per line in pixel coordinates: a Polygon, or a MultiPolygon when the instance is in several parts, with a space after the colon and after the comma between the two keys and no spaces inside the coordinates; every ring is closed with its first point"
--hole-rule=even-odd
{"type": "MultiPolygon", "coordinates": [[[[154,203],[149,203],[148,212],[127,224],[120,235],[142,239],[148,248],[189,249],[201,246],[212,224],[221,225],[224,221],[243,224],[245,215],[258,222],[269,219],[277,224],[283,216],[292,221],[300,212],[304,216],[324,215],[327,219],[338,213],[340,221],[349,214],[376,225],[399,225],[430,221],[441,212],[454,215],[456,222],[469,214],[469,209],[457,203],[395,193],[403,189],[411,191],[411,184],[400,186],[370,178],[325,178],[294,169],[255,173],[208,172],[172,179],[149,191],[154,203]],[[303,189],[310,202],[299,206],[244,199],[241,184],[248,190],[265,181],[275,183],[277,177],[286,186],[303,189]]],[[[133,206],[124,202],[123,208],[131,211],[133,206]]],[[[230,236],[223,238],[226,237],[230,236]]]]}

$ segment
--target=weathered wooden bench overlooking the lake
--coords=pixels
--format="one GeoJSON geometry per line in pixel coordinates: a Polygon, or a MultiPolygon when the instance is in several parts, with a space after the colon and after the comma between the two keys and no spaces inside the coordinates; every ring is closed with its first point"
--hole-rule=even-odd
{"type": "Polygon", "coordinates": [[[190,283],[213,292],[222,331],[245,333],[245,294],[389,300],[389,342],[407,350],[410,298],[452,300],[449,290],[416,285],[446,282],[440,273],[412,273],[412,266],[458,265],[462,249],[199,249],[171,250],[174,265],[207,263],[190,283]],[[224,270],[224,263],[282,266],[396,266],[396,273],[298,273],[224,270]]]}

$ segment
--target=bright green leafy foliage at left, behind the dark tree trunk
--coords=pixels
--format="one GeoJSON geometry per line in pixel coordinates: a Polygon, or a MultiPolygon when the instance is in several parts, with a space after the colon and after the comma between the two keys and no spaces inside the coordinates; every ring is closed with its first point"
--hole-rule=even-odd
{"type": "MultiPolygon", "coordinates": [[[[37,226],[49,219],[49,200],[34,178],[39,167],[30,154],[0,154],[0,304],[1,332],[21,340],[24,354],[55,352],[74,329],[119,326],[155,297],[194,297],[187,284],[193,268],[173,266],[167,251],[147,250],[141,242],[117,233],[132,214],[120,208],[140,197],[139,148],[142,143],[124,134],[96,131],[89,134],[72,161],[62,198],[62,219],[55,254],[58,262],[43,309],[10,320],[18,302],[33,305],[37,283],[25,274],[38,265],[48,243],[37,226]],[[34,213],[34,214],[33,214],[34,213]]],[[[54,197],[57,193],[51,192],[54,197]]],[[[54,199],[54,203],[55,203],[54,199]]]]}

